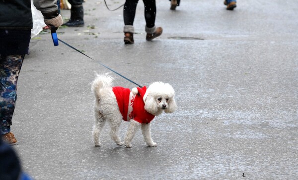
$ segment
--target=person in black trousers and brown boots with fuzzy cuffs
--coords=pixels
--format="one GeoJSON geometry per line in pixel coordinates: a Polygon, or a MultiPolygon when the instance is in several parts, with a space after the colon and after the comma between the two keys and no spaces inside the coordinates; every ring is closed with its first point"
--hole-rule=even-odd
{"type": "MultiPolygon", "coordinates": [[[[134,20],[139,0],[126,0],[123,8],[124,43],[134,44],[134,20]]],[[[143,0],[145,5],[146,40],[151,41],[162,34],[161,27],[155,27],[156,4],[155,0],[143,0]]]]}

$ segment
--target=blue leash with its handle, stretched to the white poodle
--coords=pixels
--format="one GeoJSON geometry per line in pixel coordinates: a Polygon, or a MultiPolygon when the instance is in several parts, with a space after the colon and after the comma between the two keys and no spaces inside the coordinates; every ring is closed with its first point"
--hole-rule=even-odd
{"type": "MultiPolygon", "coordinates": [[[[83,52],[77,50],[77,49],[76,49],[75,47],[73,47],[72,45],[70,45],[70,44],[68,44],[68,43],[66,43],[66,42],[64,42],[64,41],[62,41],[62,40],[60,40],[60,39],[57,37],[56,28],[55,28],[54,26],[51,27],[51,34],[52,34],[52,39],[53,39],[53,43],[54,43],[55,46],[59,45],[58,41],[60,41],[61,43],[65,44],[65,45],[67,45],[67,46],[69,46],[69,47],[71,47],[71,48],[74,49],[75,51],[77,51],[77,52],[79,52],[79,53],[81,53],[81,54],[83,54],[83,55],[89,57],[88,55],[84,54],[83,52]]],[[[109,68],[108,66],[102,64],[101,62],[96,61],[96,60],[94,60],[94,59],[91,58],[91,57],[89,57],[89,58],[92,59],[93,61],[97,62],[98,64],[102,65],[103,67],[109,69],[110,71],[114,72],[115,74],[121,76],[122,78],[126,79],[127,81],[129,81],[129,82],[131,82],[131,83],[137,85],[137,86],[140,87],[140,88],[143,88],[142,86],[138,85],[137,83],[133,82],[132,80],[128,79],[127,77],[121,75],[120,73],[114,71],[113,69],[109,68]]]]}

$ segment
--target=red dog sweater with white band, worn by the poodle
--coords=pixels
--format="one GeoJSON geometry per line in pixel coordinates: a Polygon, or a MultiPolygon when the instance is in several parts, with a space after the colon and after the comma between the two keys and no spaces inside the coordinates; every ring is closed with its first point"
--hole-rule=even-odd
{"type": "Polygon", "coordinates": [[[147,112],[144,108],[145,103],[143,97],[147,88],[137,88],[138,94],[133,94],[130,89],[123,87],[113,87],[119,110],[124,121],[134,119],[139,123],[150,123],[155,117],[147,112]]]}

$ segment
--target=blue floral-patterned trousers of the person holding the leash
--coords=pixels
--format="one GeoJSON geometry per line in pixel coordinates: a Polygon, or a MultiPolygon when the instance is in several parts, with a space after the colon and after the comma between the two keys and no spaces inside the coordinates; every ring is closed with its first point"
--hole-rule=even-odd
{"type": "Polygon", "coordinates": [[[16,101],[16,83],[24,55],[0,56],[0,134],[10,132],[16,101]]]}

